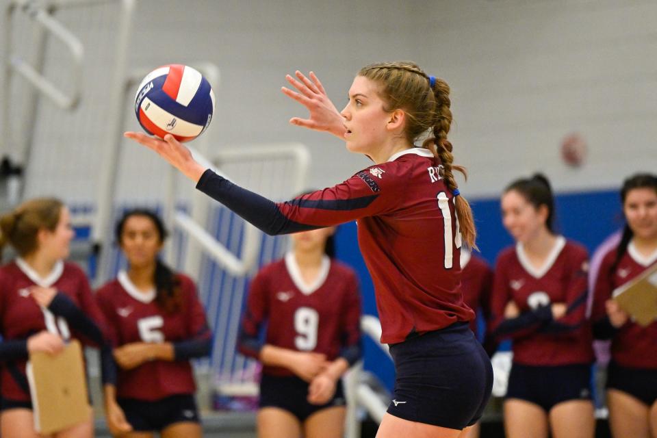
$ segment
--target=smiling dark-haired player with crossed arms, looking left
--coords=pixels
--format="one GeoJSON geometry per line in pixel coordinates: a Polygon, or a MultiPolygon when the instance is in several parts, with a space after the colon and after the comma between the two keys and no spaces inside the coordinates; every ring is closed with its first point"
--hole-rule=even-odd
{"type": "Polygon", "coordinates": [[[543,175],[504,190],[502,218],[517,242],[498,257],[491,297],[493,333],[513,339],[506,434],[593,437],[587,250],[555,233],[543,175]]]}

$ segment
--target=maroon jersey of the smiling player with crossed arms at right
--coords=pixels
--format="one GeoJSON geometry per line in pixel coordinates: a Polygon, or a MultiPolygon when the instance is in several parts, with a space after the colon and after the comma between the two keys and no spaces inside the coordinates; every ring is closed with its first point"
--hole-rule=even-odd
{"type": "Polygon", "coordinates": [[[513,338],[513,361],[523,365],[591,363],[591,327],[586,318],[587,250],[558,237],[543,268],[532,266],[521,244],[503,250],[495,266],[491,311],[493,331],[513,338]],[[518,318],[504,318],[513,300],[518,318]],[[552,319],[550,305],[567,312],[552,319]]]}

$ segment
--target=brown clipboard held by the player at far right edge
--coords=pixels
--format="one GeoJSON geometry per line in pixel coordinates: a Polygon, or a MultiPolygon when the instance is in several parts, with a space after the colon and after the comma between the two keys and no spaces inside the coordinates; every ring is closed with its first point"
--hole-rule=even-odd
{"type": "Polygon", "coordinates": [[[613,299],[643,327],[657,320],[657,263],[615,289],[613,299]]]}

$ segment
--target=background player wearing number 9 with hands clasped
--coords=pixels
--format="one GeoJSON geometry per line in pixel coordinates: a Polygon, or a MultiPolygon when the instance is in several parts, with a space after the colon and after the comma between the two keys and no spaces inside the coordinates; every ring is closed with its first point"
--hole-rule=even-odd
{"type": "Polygon", "coordinates": [[[340,377],[361,357],[361,305],[355,272],[329,257],[333,231],[293,234],[292,251],[250,285],[239,348],[264,365],[261,438],[343,435],[340,377]]]}

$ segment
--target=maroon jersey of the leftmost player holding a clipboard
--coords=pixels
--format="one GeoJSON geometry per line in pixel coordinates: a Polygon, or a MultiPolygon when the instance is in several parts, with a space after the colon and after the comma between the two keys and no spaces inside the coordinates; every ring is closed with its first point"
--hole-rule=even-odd
{"type": "MultiPolygon", "coordinates": [[[[57,297],[53,299],[53,304],[55,300],[57,297]]],[[[47,330],[64,339],[73,337],[83,344],[98,346],[97,340],[92,341],[87,333],[75,330],[75,326],[78,326],[75,318],[85,318],[84,314],[103,325],[103,317],[94,302],[87,277],[73,263],[58,261],[46,278],[41,278],[22,259],[16,259],[0,268],[0,334],[3,342],[26,343],[31,335],[47,330]],[[54,287],[58,295],[66,296],[75,305],[74,308],[81,311],[80,315],[64,315],[52,307],[40,307],[29,294],[29,288],[34,285],[54,287]]],[[[29,401],[31,397],[25,376],[27,344],[20,350],[11,358],[0,357],[3,365],[0,374],[1,394],[11,400],[29,401]]]]}

